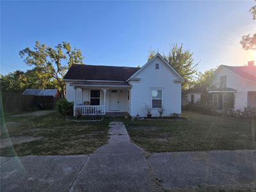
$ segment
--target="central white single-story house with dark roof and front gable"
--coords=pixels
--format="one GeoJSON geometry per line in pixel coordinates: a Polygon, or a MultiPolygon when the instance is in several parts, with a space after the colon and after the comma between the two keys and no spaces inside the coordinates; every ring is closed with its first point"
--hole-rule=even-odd
{"type": "Polygon", "coordinates": [[[72,65],[63,78],[66,98],[74,102],[74,114],[105,115],[106,112],[127,112],[152,116],[164,108],[164,116],[181,113],[182,77],[156,54],[143,67],[72,65]]]}

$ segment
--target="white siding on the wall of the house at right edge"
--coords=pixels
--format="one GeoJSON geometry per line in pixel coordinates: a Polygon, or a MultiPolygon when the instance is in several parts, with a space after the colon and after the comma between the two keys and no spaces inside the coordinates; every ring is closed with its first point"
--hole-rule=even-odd
{"type": "Polygon", "coordinates": [[[237,90],[235,93],[235,109],[243,109],[247,106],[247,94],[250,91],[256,91],[256,83],[248,81],[243,77],[234,74],[234,72],[228,70],[225,67],[220,67],[214,74],[213,84],[216,88],[220,86],[220,77],[227,76],[227,87],[237,90]]]}

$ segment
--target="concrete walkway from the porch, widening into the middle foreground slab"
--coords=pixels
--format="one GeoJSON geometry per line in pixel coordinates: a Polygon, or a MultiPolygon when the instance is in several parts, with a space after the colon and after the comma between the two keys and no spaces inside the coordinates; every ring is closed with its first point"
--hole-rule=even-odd
{"type": "Polygon", "coordinates": [[[88,157],[70,191],[152,191],[143,150],[131,143],[122,122],[109,126],[108,144],[88,157]]]}

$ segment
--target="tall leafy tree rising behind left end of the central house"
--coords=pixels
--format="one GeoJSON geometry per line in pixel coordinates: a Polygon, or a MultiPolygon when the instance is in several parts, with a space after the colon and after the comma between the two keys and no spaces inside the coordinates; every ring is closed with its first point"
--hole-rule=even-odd
{"type": "Polygon", "coordinates": [[[63,97],[65,97],[63,76],[73,64],[83,64],[82,52],[76,48],[72,50],[68,42],[62,42],[52,48],[36,41],[33,49],[27,47],[19,54],[27,65],[35,66],[36,70],[49,76],[49,80],[56,81],[57,88],[63,97]]]}

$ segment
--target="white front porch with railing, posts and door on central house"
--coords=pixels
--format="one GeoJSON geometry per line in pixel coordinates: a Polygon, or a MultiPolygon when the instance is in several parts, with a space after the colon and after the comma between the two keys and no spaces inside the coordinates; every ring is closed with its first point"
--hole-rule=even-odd
{"type": "MultiPolygon", "coordinates": [[[[94,82],[93,82],[94,83],[94,82]]],[[[74,87],[74,116],[109,115],[130,112],[131,85],[104,82],[98,84],[72,83],[74,87]],[[101,84],[101,85],[100,85],[101,84]]]]}

